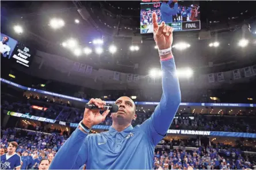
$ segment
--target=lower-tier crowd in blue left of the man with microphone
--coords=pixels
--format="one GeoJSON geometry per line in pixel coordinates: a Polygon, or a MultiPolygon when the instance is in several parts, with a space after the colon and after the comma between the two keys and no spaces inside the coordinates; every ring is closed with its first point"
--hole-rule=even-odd
{"type": "Polygon", "coordinates": [[[1,127],[1,155],[6,153],[9,142],[16,141],[16,153],[21,156],[22,161],[21,169],[38,169],[41,159],[48,159],[51,163],[67,137],[58,133],[47,134],[1,127]]]}

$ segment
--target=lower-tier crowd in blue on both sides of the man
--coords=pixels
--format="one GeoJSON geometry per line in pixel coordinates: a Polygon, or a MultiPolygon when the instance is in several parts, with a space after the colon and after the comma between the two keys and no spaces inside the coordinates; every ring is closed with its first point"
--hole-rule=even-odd
{"type": "MultiPolygon", "coordinates": [[[[59,133],[32,132],[23,129],[1,128],[1,155],[6,152],[7,144],[16,141],[16,152],[23,162],[21,169],[37,169],[41,159],[51,162],[60,146],[67,140],[67,135],[59,133]]],[[[245,156],[242,150],[234,146],[216,144],[196,146],[186,149],[188,143],[164,141],[163,147],[155,148],[154,169],[245,169],[256,168],[256,157],[245,156]],[[174,149],[173,146],[179,146],[174,149]]],[[[189,142],[191,144],[191,142],[189,142]]],[[[197,141],[198,145],[198,141],[197,141]]]]}

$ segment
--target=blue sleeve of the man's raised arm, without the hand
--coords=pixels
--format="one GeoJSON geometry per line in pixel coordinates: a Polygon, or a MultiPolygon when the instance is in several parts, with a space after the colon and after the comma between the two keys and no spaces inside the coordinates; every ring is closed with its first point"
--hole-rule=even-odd
{"type": "Polygon", "coordinates": [[[181,103],[181,90],[176,74],[174,58],[161,61],[162,88],[161,101],[152,115],[152,123],[158,134],[164,136],[169,129],[173,118],[181,103]]]}

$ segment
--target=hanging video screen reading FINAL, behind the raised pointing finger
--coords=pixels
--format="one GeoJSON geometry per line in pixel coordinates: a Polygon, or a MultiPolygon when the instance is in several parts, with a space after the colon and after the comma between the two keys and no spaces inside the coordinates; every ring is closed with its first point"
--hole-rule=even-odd
{"type": "Polygon", "coordinates": [[[143,0],[140,3],[140,33],[153,33],[152,13],[158,24],[165,21],[174,31],[200,30],[200,6],[198,1],[143,0]]]}

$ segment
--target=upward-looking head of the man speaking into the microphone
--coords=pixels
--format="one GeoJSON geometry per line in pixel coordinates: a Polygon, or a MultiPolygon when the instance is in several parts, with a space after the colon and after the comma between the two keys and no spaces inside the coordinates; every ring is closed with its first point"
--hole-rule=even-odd
{"type": "Polygon", "coordinates": [[[113,121],[124,121],[132,122],[133,119],[136,119],[137,115],[135,114],[135,103],[131,98],[127,96],[122,96],[116,101],[116,105],[119,106],[119,111],[112,113],[111,117],[113,121]]]}

